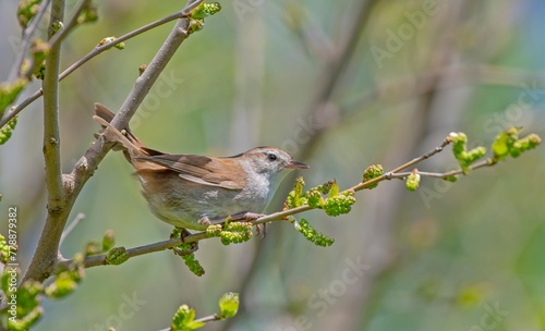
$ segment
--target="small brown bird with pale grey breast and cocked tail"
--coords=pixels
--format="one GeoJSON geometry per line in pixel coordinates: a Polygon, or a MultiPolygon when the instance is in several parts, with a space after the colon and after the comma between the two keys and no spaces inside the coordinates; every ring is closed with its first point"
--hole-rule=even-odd
{"type": "Polygon", "coordinates": [[[203,231],[228,217],[259,214],[289,171],[310,168],[268,146],[231,157],[162,152],[146,147],[129,126],[113,127],[114,114],[105,106],[95,103],[95,113],[101,136],[133,166],[150,211],[175,228],[203,231]]]}

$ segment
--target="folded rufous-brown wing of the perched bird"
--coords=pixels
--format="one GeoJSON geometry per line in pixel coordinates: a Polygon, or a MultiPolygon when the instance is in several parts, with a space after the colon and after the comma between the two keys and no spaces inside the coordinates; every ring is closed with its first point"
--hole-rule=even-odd
{"type": "Polygon", "coordinates": [[[201,185],[242,189],[244,181],[233,177],[237,173],[232,162],[220,162],[213,158],[196,155],[160,154],[137,158],[138,161],[149,161],[179,173],[180,177],[201,185]],[[237,182],[239,184],[237,184],[237,182]]]}

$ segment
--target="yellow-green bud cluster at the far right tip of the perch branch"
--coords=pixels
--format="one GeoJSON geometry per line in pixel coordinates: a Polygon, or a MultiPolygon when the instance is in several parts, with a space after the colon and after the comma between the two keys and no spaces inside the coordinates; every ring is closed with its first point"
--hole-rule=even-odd
{"type": "Polygon", "coordinates": [[[496,137],[492,144],[495,162],[501,161],[508,156],[518,158],[524,151],[536,148],[541,144],[540,136],[534,133],[519,139],[520,131],[521,127],[512,126],[496,137]]]}

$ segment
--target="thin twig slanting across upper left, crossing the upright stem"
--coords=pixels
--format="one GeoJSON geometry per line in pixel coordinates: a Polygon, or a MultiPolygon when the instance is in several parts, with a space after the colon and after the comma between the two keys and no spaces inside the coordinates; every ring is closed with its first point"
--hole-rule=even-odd
{"type": "MultiPolygon", "coordinates": [[[[197,7],[201,2],[203,2],[204,0],[199,0],[199,1],[195,1],[193,2],[192,4],[187,5],[186,8],[184,8],[183,10],[179,11],[179,12],[175,12],[169,16],[166,16],[166,17],[162,17],[160,20],[157,20],[153,23],[149,23],[147,25],[144,25],[142,27],[138,27],[119,38],[116,38],[114,40],[111,40],[109,42],[106,42],[105,45],[101,45],[101,46],[97,46],[95,47],[92,51],[89,51],[85,57],[83,57],[82,59],[77,60],[76,62],[74,62],[72,65],[70,65],[69,68],[66,68],[60,75],[59,75],[59,82],[64,79],[66,76],[69,76],[71,73],[73,73],[76,69],[78,69],[80,66],[82,66],[83,64],[85,64],[87,61],[89,61],[90,59],[97,57],[98,54],[100,54],[101,52],[114,47],[116,45],[118,45],[119,42],[123,42],[125,40],[129,40],[133,37],[136,37],[145,32],[148,32],[155,27],[158,27],[160,25],[164,25],[166,23],[169,23],[171,21],[174,21],[177,19],[183,19],[183,17],[186,17],[187,14],[193,10],[195,9],[195,7],[197,7]]],[[[57,41],[57,40],[55,40],[57,41]]],[[[13,119],[16,114],[19,114],[23,109],[25,109],[26,107],[28,107],[28,105],[31,105],[32,102],[34,102],[36,99],[38,99],[39,97],[41,97],[44,95],[44,90],[40,88],[38,90],[36,90],[35,93],[33,93],[29,97],[27,97],[25,100],[23,100],[20,105],[17,105],[15,108],[13,108],[13,110],[8,114],[5,115],[5,118],[3,118],[1,121],[0,121],[0,127],[2,127],[3,125],[5,125],[5,123],[8,123],[8,121],[10,121],[11,119],[13,119]]]]}

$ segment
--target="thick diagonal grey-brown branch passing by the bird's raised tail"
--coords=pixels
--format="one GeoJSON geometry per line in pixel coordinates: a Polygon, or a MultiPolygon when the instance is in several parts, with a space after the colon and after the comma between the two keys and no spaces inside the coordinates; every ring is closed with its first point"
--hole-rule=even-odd
{"type": "MultiPolygon", "coordinates": [[[[61,1],[61,0],[57,0],[61,1]]],[[[184,12],[194,8],[203,0],[187,1],[184,12]]],[[[187,34],[189,20],[183,19],[177,22],[165,44],[161,46],[155,58],[152,60],[147,70],[136,79],[136,83],[126,97],[120,111],[112,121],[112,125],[123,127],[129,123],[129,120],[134,114],[140,103],[156,82],[161,71],[172,58],[178,47],[189,36],[187,34]]],[[[118,41],[119,42],[119,41],[118,41]]],[[[55,76],[57,77],[57,76],[55,76]]],[[[58,82],[57,79],[53,79],[58,82]]],[[[65,196],[57,206],[55,211],[55,220],[48,217],[43,235],[36,247],[32,262],[26,270],[23,281],[34,279],[44,281],[53,270],[53,265],[58,260],[58,246],[62,235],[62,230],[70,214],[72,206],[75,203],[80,192],[85,183],[94,174],[100,161],[104,159],[111,144],[105,144],[104,139],[99,138],[87,149],[85,155],[77,161],[72,173],[63,175],[62,185],[65,189],[65,196]]],[[[49,206],[51,210],[51,206],[49,206]]],[[[51,213],[50,213],[51,214],[51,213]]],[[[137,252],[137,250],[136,250],[137,252]]]]}

